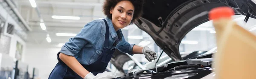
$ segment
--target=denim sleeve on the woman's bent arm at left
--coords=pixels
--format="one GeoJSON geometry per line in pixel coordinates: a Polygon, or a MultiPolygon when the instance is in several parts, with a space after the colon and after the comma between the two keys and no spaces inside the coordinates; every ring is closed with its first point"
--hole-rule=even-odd
{"type": "Polygon", "coordinates": [[[102,34],[102,28],[100,20],[93,20],[87,23],[75,37],[70,38],[61,47],[60,52],[69,56],[75,56],[84,46],[90,47],[95,45],[102,34]]]}

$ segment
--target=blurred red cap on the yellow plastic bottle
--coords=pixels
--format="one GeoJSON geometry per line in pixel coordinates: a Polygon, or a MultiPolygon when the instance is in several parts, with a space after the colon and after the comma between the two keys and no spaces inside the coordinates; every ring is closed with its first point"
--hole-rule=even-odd
{"type": "Polygon", "coordinates": [[[209,12],[209,20],[218,20],[219,18],[231,18],[232,15],[234,15],[234,10],[230,7],[217,7],[213,8],[209,12]]]}

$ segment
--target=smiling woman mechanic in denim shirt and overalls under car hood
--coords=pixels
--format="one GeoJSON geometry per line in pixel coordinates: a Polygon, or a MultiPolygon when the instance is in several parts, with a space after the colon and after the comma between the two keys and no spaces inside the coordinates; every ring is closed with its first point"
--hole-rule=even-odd
{"type": "Polygon", "coordinates": [[[138,19],[142,10],[143,0],[105,0],[103,11],[107,17],[87,23],[65,43],[49,79],[114,78],[105,69],[115,49],[130,55],[145,54],[151,62],[156,53],[148,47],[129,44],[120,29],[138,19]]]}

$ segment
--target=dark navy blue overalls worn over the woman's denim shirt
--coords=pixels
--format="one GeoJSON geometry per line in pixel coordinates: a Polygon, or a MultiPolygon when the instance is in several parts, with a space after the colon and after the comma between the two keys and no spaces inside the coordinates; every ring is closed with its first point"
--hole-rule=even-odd
{"type": "MultiPolygon", "coordinates": [[[[100,54],[99,59],[90,64],[90,65],[82,65],[87,71],[93,73],[93,75],[97,75],[98,73],[103,73],[110,62],[111,57],[113,55],[114,49],[106,48],[108,46],[108,38],[109,38],[109,27],[108,23],[105,19],[103,19],[106,25],[106,34],[105,34],[105,43],[102,54],[100,54]]],[[[64,62],[59,58],[60,52],[57,54],[58,63],[52,72],[49,75],[48,79],[84,79],[76,74],[71,68],[69,68],[64,62]]]]}

